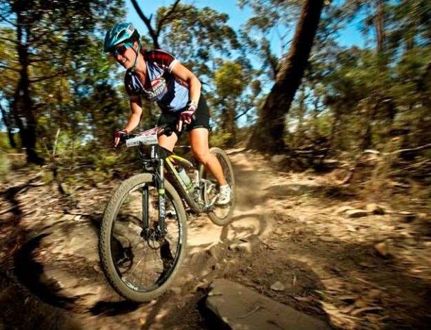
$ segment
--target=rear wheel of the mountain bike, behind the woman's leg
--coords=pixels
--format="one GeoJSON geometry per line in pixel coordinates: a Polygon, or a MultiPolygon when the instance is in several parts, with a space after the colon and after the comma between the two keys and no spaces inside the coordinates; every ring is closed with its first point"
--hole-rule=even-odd
{"type": "MultiPolygon", "coordinates": [[[[223,171],[223,175],[228,182],[230,189],[232,190],[232,195],[230,202],[226,205],[214,205],[212,206],[212,209],[208,212],[208,217],[210,217],[210,220],[214,222],[214,224],[217,224],[218,226],[225,226],[225,224],[228,224],[232,220],[232,215],[235,208],[235,202],[237,199],[236,193],[235,193],[235,179],[234,179],[234,171],[232,169],[232,164],[230,164],[230,160],[228,155],[221,150],[221,148],[210,148],[210,152],[217,157],[217,159],[220,162],[221,169],[223,171]]],[[[217,180],[214,178],[214,176],[211,173],[208,173],[206,168],[201,165],[199,168],[199,173],[201,175],[201,178],[208,179],[213,184],[217,185],[217,180]]],[[[215,193],[215,192],[214,192],[215,193]]],[[[211,200],[213,195],[208,196],[208,198],[211,200]]]]}

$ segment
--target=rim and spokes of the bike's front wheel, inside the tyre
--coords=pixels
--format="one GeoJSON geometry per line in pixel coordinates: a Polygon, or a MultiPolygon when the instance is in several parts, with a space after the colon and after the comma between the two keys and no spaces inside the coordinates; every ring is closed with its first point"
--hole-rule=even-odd
{"type": "MultiPolygon", "coordinates": [[[[183,228],[179,211],[172,197],[166,195],[166,229],[163,240],[155,235],[146,240],[142,232],[142,190],[145,184],[132,188],[123,198],[112,222],[110,252],[114,268],[122,282],[137,292],[149,292],[161,287],[179,261],[183,244],[183,228]]],[[[159,217],[158,195],[148,186],[148,222],[152,233],[159,217]]]]}

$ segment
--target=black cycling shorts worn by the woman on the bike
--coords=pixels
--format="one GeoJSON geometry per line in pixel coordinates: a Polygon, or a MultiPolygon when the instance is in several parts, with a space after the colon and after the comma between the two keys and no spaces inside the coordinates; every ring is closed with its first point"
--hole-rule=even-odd
{"type": "MultiPolygon", "coordinates": [[[[161,126],[168,124],[172,132],[177,133],[177,135],[181,135],[182,132],[177,131],[177,122],[180,113],[181,111],[177,111],[175,113],[172,113],[172,111],[162,111],[157,125],[161,126]]],[[[199,97],[199,103],[197,105],[196,112],[194,113],[194,119],[192,119],[192,122],[186,126],[186,131],[190,132],[190,130],[194,128],[206,128],[210,130],[210,109],[208,108],[203,95],[199,97]]]]}

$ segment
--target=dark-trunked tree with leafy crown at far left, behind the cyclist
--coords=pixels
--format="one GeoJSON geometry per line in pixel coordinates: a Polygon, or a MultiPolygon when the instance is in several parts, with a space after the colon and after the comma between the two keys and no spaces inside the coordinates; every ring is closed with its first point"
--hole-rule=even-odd
{"type": "MultiPolygon", "coordinates": [[[[36,150],[38,114],[54,94],[41,90],[67,93],[68,77],[78,69],[71,63],[85,56],[86,48],[96,39],[95,33],[123,14],[122,6],[122,0],[0,0],[1,25],[14,35],[1,40],[16,53],[12,66],[2,68],[17,72],[10,113],[19,128],[28,162],[43,162],[36,150]],[[44,88],[38,90],[37,84],[44,88]]],[[[57,96],[56,101],[61,101],[65,94],[57,96]]]]}

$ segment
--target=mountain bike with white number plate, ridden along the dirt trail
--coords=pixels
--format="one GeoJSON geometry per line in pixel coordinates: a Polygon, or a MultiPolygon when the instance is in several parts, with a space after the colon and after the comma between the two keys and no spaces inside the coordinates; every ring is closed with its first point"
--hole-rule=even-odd
{"type": "Polygon", "coordinates": [[[202,164],[190,162],[157,143],[163,127],[124,139],[136,147],[143,173],[120,184],[101,222],[101,268],[123,298],[148,302],[170,287],[186,254],[188,213],[206,213],[214,224],[232,220],[235,182],[228,155],[211,148],[232,189],[218,206],[217,181],[202,164]],[[185,175],[186,174],[186,175],[185,175]],[[187,179],[188,178],[188,179],[187,179]]]}

